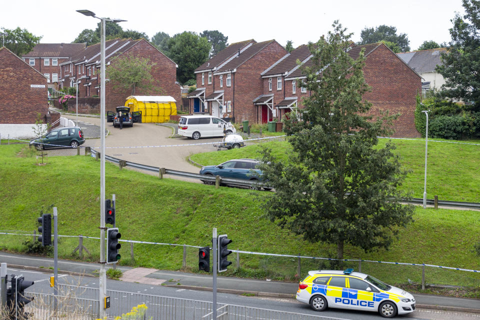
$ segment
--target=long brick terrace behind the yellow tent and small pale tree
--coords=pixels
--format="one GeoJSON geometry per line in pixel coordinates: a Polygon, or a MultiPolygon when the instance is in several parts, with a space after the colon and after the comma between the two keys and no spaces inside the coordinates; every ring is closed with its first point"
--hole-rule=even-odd
{"type": "MultiPolygon", "coordinates": [[[[144,95],[170,95],[177,102],[181,103],[180,85],[176,81],[177,64],[160,52],[156,47],[145,39],[111,39],[105,41],[105,64],[114,63],[113,57],[131,54],[133,56],[146,57],[154,64],[151,74],[156,81],[152,90],[142,92],[135,90],[135,94],[144,95]]],[[[78,82],[78,97],[93,97],[100,95],[100,43],[92,44],[65,62],[60,63],[61,77],[60,86],[75,86],[78,82]]],[[[105,109],[114,111],[116,106],[124,105],[125,100],[131,95],[130,90],[113,88],[113,85],[106,81],[105,88],[105,109]]],[[[94,105],[99,111],[99,104],[94,105]]]]}

